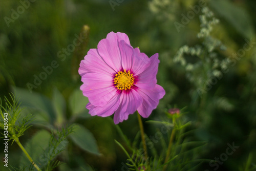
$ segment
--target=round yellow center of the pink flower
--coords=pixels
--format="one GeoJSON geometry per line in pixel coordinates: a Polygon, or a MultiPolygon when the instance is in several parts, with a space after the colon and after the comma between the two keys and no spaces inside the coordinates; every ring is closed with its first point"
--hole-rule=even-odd
{"type": "Polygon", "coordinates": [[[116,84],[117,90],[127,90],[131,89],[131,87],[134,84],[134,77],[133,74],[130,73],[130,70],[128,72],[119,71],[118,74],[115,74],[114,78],[114,84],[116,84]]]}

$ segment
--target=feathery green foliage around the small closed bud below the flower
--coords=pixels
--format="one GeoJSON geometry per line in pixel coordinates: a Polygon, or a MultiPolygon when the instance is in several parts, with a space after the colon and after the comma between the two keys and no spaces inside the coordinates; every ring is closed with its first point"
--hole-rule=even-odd
{"type": "MultiPolygon", "coordinates": [[[[174,139],[172,142],[172,147],[167,149],[168,142],[164,140],[163,131],[158,130],[157,133],[161,134],[160,138],[157,139],[161,143],[161,151],[159,152],[156,147],[156,139],[146,138],[146,144],[148,149],[150,149],[150,157],[145,158],[145,154],[140,142],[139,133],[135,136],[132,148],[126,151],[125,147],[115,140],[118,146],[127,156],[126,166],[130,170],[193,170],[198,168],[198,166],[203,162],[209,162],[208,159],[200,159],[196,155],[203,146],[206,145],[206,142],[202,141],[191,141],[193,136],[193,131],[187,132],[187,127],[191,126],[190,121],[184,120],[184,113],[179,114],[169,114],[166,112],[167,118],[164,121],[147,121],[148,123],[161,124],[166,126],[172,126],[172,129],[167,133],[167,138],[172,137],[171,134],[174,134],[174,139]],[[175,130],[175,133],[174,133],[175,130]],[[172,132],[172,133],[170,133],[172,132]],[[170,150],[170,154],[166,162],[164,158],[166,157],[166,152],[170,150]],[[130,152],[131,151],[131,152],[130,152]],[[129,153],[130,152],[130,153],[129,153]]],[[[162,129],[161,129],[162,130],[162,129]]],[[[119,131],[121,136],[123,133],[119,131]]],[[[157,135],[157,134],[155,134],[157,135]]],[[[124,142],[126,142],[124,140],[124,142]]],[[[127,142],[126,142],[127,143],[127,142]]],[[[129,146],[129,145],[128,145],[129,146]]]]}

